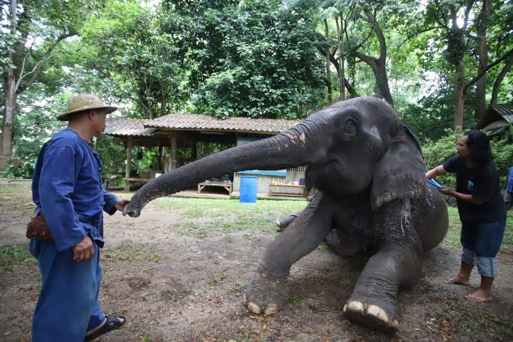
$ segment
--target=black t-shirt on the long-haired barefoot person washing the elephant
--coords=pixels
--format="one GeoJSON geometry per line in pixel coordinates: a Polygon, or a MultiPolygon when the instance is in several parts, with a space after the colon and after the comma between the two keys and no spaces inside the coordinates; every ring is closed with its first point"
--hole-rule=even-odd
{"type": "Polygon", "coordinates": [[[456,173],[456,191],[483,200],[482,205],[457,199],[462,222],[491,223],[506,218],[499,172],[493,163],[469,168],[466,159],[455,155],[443,164],[447,172],[456,173]]]}

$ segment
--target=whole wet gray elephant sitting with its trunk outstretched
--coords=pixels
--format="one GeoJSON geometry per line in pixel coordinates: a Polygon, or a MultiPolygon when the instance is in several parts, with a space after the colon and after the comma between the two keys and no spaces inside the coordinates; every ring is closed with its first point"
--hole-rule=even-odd
{"type": "Polygon", "coordinates": [[[172,170],[137,191],[123,215],[137,217],[150,200],[210,177],[302,165],[317,193],[264,251],[244,305],[255,314],[282,309],[292,264],[327,240],[344,255],[367,257],[346,317],[396,331],[398,291],[419,279],[422,253],[442,242],[448,216],[441,194],[426,186],[417,139],[379,98],[335,103],[277,136],[172,170]]]}

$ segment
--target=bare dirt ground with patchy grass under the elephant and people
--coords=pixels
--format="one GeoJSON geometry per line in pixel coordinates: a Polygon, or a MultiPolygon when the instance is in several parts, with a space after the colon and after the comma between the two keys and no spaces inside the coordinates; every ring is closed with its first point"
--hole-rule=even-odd
{"type": "MultiPolygon", "coordinates": [[[[27,252],[25,229],[33,212],[30,184],[0,182],[0,340],[29,341],[41,277],[27,252]]],[[[444,285],[457,272],[460,248],[443,243],[425,256],[419,283],[400,293],[400,330],[390,335],[342,314],[363,265],[325,246],[296,263],[290,300],[273,316],[242,306],[244,285],[275,234],[266,217],[287,215],[305,202],[167,198],[139,218],[105,217],[106,245],[100,305],[128,323],[100,341],[493,341],[513,340],[513,255],[497,259],[494,298],[475,304],[470,288],[444,285]]]]}

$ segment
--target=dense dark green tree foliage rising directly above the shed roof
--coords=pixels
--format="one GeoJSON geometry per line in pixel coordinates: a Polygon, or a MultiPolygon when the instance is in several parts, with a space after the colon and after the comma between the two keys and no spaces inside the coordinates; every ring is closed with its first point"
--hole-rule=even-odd
{"type": "Polygon", "coordinates": [[[196,110],[293,119],[321,101],[323,65],[307,12],[254,0],[209,9],[202,21],[211,35],[191,56],[199,70],[208,64],[209,74],[193,100],[196,110]]]}

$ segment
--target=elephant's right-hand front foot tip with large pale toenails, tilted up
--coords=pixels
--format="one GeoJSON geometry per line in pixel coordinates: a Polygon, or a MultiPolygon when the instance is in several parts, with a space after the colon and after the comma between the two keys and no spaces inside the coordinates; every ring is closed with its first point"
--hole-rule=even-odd
{"type": "Polygon", "coordinates": [[[390,313],[387,313],[378,305],[365,304],[359,300],[349,300],[344,305],[344,314],[354,323],[374,330],[393,333],[399,329],[397,319],[392,318],[390,313]]]}

